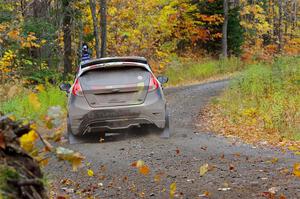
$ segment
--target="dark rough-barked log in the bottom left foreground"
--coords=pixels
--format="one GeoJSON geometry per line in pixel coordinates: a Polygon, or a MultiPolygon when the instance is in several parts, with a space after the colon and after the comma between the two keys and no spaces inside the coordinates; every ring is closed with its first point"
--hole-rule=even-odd
{"type": "Polygon", "coordinates": [[[19,143],[19,137],[30,131],[0,114],[0,198],[48,198],[40,166],[19,143]]]}

